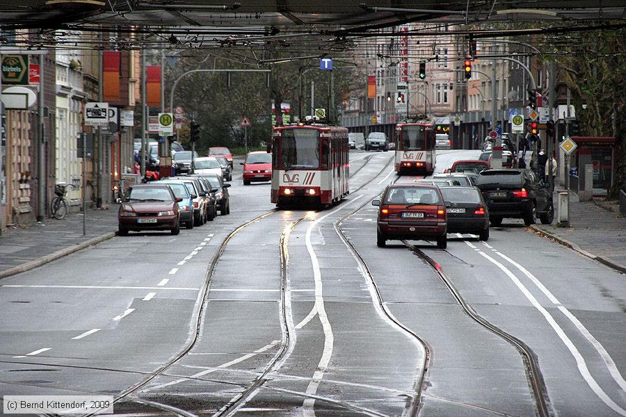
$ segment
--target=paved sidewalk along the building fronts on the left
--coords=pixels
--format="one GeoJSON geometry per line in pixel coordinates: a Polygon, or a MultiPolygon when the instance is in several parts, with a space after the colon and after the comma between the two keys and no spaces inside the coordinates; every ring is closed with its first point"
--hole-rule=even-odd
{"type": "Polygon", "coordinates": [[[115,236],[118,230],[118,204],[108,209],[87,210],[86,236],[82,213],[68,214],[63,220],[7,227],[0,236],[0,278],[43,265],[61,256],[115,236]]]}

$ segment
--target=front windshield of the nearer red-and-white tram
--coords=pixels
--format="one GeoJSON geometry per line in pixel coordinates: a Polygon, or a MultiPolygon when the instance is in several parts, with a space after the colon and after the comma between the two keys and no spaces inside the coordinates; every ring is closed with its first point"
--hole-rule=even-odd
{"type": "Polygon", "coordinates": [[[319,168],[319,132],[316,129],[283,129],[280,163],[286,170],[319,168]]]}

